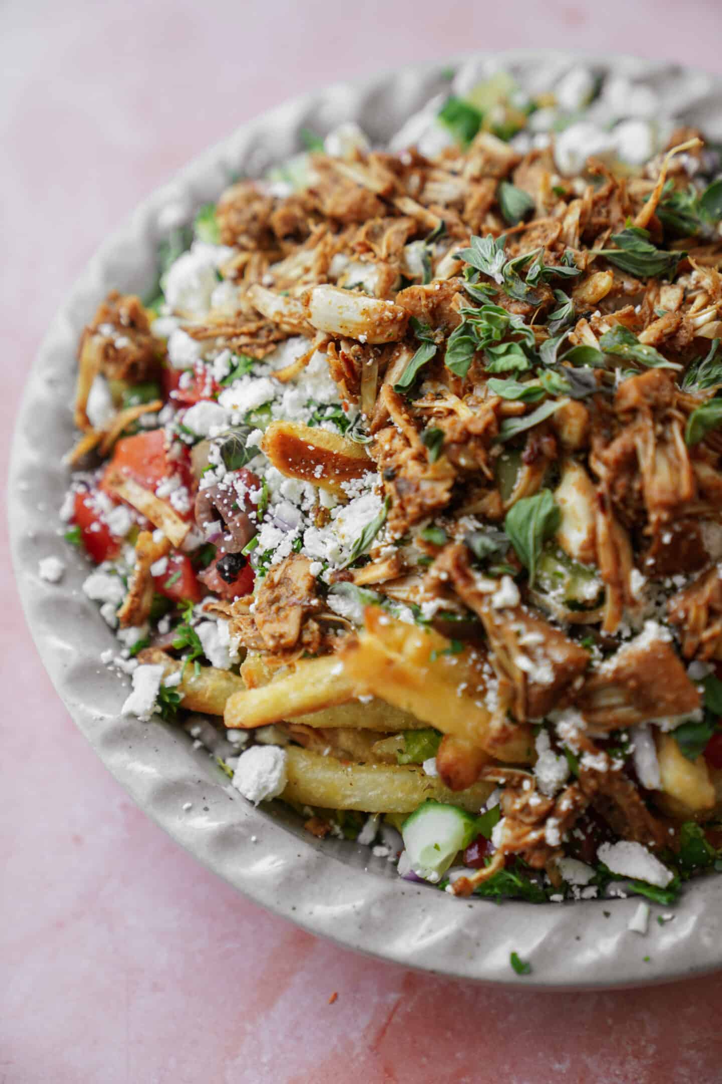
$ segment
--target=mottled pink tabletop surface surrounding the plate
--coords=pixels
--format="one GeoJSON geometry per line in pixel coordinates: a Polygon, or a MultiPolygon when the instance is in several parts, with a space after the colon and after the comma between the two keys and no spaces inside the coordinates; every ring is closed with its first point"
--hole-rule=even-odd
{"type": "MultiPolygon", "coordinates": [[[[69,281],[142,196],[261,108],[475,44],[619,49],[719,72],[721,43],[716,0],[4,0],[3,460],[69,281]]],[[[247,903],[95,759],[45,676],[6,562],[0,615],[0,1084],[722,1080],[722,978],[554,995],[520,980],[502,993],[375,963],[247,903]]]]}

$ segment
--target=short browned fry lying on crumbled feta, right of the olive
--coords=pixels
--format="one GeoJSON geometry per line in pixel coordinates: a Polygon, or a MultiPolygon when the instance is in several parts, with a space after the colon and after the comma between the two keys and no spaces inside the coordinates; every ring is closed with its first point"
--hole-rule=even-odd
{"type": "Polygon", "coordinates": [[[341,482],[373,469],[363,444],[299,422],[272,422],[261,449],[288,478],[301,478],[341,498],[346,498],[341,482]]]}

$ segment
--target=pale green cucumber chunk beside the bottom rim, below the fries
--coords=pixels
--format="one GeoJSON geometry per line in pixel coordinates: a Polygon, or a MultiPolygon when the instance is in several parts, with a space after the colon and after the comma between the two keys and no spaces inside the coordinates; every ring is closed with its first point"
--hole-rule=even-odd
{"type": "Polygon", "coordinates": [[[441,880],[459,851],[477,835],[477,817],[458,805],[430,799],[404,822],[402,836],[411,869],[425,880],[441,880]]]}

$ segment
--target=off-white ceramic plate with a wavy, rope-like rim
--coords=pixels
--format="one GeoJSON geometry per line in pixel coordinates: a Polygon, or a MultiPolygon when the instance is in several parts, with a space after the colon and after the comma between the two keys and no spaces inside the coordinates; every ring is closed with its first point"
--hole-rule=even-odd
{"type": "MultiPolygon", "coordinates": [[[[467,59],[468,60],[468,59],[467,59]]],[[[480,61],[483,61],[480,57],[480,61]]],[[[568,53],[488,57],[541,89],[578,61],[568,53]]],[[[601,70],[648,81],[665,109],[722,139],[722,85],[711,76],[629,57],[585,57],[601,70]]],[[[386,141],[434,93],[443,67],[405,68],[288,103],[235,132],[156,192],[90,262],[55,318],[32,369],[15,433],[10,481],[13,558],[42,660],[80,730],[133,799],[208,867],[251,899],[314,933],[385,959],[487,982],[606,986],[681,978],[722,966],[722,878],[685,890],[674,920],[654,917],[646,938],[628,931],[638,899],[531,905],[459,901],[402,880],[370,850],[316,840],[284,812],[253,809],[187,735],[122,718],[127,688],[100,662],[115,645],[80,591],[88,566],[57,534],[67,485],[62,456],[73,442],[70,403],[83,324],[111,288],[144,293],[153,280],[160,211],[214,199],[238,172],[259,176],[299,150],[298,131],[326,132],[355,119],[386,141]],[[62,556],[51,586],[38,559],[62,556]],[[189,811],[183,805],[192,802],[189,811]],[[533,964],[517,978],[509,955],[533,964]],[[645,959],[648,957],[648,959],[645,959]]],[[[659,908],[653,908],[655,913],[659,908]]]]}

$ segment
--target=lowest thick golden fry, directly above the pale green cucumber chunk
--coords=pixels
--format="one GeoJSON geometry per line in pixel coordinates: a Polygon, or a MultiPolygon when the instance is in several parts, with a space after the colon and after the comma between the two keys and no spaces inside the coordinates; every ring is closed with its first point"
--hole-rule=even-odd
{"type": "Polygon", "coordinates": [[[483,779],[455,792],[410,764],[343,764],[334,757],[293,746],[286,750],[286,771],[288,783],[281,798],[364,813],[411,813],[428,798],[477,813],[495,786],[483,779]]]}

